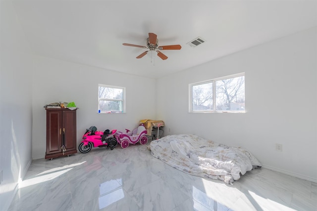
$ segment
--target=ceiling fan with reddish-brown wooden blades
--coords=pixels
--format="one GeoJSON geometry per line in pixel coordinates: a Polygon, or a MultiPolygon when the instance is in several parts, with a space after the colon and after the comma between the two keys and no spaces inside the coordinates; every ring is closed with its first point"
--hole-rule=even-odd
{"type": "Polygon", "coordinates": [[[159,50],[179,50],[182,48],[179,44],[174,44],[174,45],[159,45],[159,40],[157,39],[157,35],[154,33],[149,33],[149,38],[147,39],[147,46],[142,46],[142,45],[137,45],[137,44],[129,44],[129,43],[122,43],[123,45],[126,46],[132,46],[132,47],[142,47],[142,48],[148,48],[149,50],[141,53],[138,55],[136,58],[140,59],[146,54],[148,54],[151,58],[154,58],[156,55],[159,56],[159,58],[165,60],[168,57],[160,52],[159,50]]]}

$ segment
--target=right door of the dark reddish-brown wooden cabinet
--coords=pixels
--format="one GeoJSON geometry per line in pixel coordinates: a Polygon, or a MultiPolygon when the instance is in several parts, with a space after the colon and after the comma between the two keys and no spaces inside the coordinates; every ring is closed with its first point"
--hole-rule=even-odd
{"type": "Polygon", "coordinates": [[[76,150],[76,110],[64,110],[63,143],[66,151],[76,150]]]}

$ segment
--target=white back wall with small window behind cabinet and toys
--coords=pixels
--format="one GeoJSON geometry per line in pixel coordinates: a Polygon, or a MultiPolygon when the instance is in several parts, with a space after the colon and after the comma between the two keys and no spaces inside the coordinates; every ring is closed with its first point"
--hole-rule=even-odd
{"type": "Polygon", "coordinates": [[[75,102],[77,146],[86,128],[134,129],[142,119],[156,119],[156,80],[121,74],[96,67],[35,57],[33,79],[33,159],[44,158],[46,111],[53,102],[75,102]],[[98,84],[126,88],[125,114],[98,114],[98,84]]]}

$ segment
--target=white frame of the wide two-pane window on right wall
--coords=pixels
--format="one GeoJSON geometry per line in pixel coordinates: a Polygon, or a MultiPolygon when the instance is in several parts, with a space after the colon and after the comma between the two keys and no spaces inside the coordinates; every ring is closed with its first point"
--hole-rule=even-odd
{"type": "MultiPolygon", "coordinates": [[[[216,82],[221,81],[221,80],[226,80],[226,79],[238,78],[238,77],[242,77],[242,76],[245,79],[245,72],[189,84],[189,86],[188,86],[189,87],[189,113],[246,113],[245,106],[244,106],[244,110],[240,110],[240,111],[239,110],[237,110],[237,111],[223,111],[223,110],[216,109],[216,82]],[[212,110],[193,110],[193,86],[201,85],[201,84],[208,84],[208,83],[212,83],[212,107],[213,107],[213,109],[212,110]]],[[[245,82],[244,82],[244,84],[245,84],[245,82]]],[[[245,95],[245,90],[244,90],[244,95],[245,95]]]]}

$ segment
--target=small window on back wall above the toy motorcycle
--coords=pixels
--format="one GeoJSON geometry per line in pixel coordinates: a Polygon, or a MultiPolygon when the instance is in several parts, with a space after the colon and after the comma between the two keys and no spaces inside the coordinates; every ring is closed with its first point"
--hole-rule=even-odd
{"type": "Polygon", "coordinates": [[[125,87],[99,84],[98,87],[99,113],[125,112],[125,87]]]}

